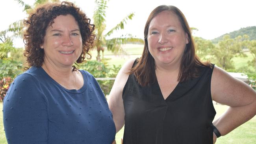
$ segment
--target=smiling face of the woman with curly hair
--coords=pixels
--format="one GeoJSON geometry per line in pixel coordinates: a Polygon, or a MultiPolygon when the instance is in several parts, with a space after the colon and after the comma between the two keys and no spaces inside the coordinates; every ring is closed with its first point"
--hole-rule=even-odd
{"type": "Polygon", "coordinates": [[[44,64],[58,67],[72,66],[82,53],[82,37],[72,15],[59,15],[46,29],[44,64]]]}

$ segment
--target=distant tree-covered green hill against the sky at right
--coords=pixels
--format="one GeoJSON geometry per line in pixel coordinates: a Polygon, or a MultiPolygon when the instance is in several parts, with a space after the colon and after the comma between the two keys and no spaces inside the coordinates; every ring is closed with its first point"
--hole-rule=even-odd
{"type": "MultiPolygon", "coordinates": [[[[237,37],[238,35],[249,35],[250,40],[256,40],[256,26],[248,26],[246,28],[241,28],[240,30],[236,30],[236,31],[232,31],[230,33],[226,33],[228,35],[230,35],[230,38],[234,39],[235,37],[237,37]]],[[[226,35],[224,34],[224,35],[226,35]]],[[[216,44],[218,43],[220,40],[222,40],[223,36],[221,35],[220,37],[217,37],[215,39],[212,39],[211,41],[216,44]]]]}

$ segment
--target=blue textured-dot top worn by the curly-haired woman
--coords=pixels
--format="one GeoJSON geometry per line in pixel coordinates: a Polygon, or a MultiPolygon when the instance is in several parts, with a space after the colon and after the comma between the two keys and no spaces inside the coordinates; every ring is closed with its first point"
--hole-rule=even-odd
{"type": "Polygon", "coordinates": [[[43,68],[17,76],[4,98],[9,144],[111,144],[115,124],[95,78],[87,71],[83,87],[68,90],[43,68]]]}

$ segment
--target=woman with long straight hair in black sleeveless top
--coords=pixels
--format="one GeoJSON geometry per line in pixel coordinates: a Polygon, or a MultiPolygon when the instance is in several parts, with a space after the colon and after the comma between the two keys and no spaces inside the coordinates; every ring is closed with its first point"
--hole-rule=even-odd
{"type": "Polygon", "coordinates": [[[177,7],[156,7],[144,39],[141,58],[122,66],[109,94],[123,144],[213,144],[255,116],[255,90],[200,61],[177,7]],[[212,100],[230,106],[214,122],[212,100]]]}

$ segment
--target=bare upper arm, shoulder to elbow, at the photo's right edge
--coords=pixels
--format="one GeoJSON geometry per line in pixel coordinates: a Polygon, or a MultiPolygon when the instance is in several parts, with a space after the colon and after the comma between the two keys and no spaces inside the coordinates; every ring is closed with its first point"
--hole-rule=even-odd
{"type": "Polygon", "coordinates": [[[211,96],[218,103],[229,106],[245,105],[256,95],[249,85],[214,66],[211,76],[211,96]]]}

